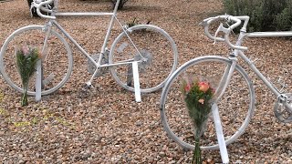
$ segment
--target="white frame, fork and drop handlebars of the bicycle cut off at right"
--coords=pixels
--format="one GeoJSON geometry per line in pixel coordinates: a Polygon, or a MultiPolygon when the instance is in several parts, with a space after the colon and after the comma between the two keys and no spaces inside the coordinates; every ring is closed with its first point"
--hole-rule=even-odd
{"type": "MultiPolygon", "coordinates": [[[[247,50],[246,46],[242,46],[242,43],[245,39],[245,37],[285,37],[285,36],[292,36],[292,31],[281,31],[281,32],[253,32],[253,33],[246,33],[246,26],[249,21],[249,16],[242,15],[242,16],[233,16],[233,15],[217,15],[214,17],[209,17],[203,20],[201,25],[204,26],[204,32],[206,36],[214,40],[214,43],[216,41],[225,42],[227,46],[229,46],[231,49],[231,54],[229,55],[228,59],[230,61],[230,64],[228,64],[224,68],[223,77],[221,77],[221,80],[218,84],[218,87],[215,91],[215,103],[219,101],[219,99],[224,95],[224,91],[228,84],[230,83],[230,80],[233,76],[233,73],[235,71],[235,67],[237,66],[237,57],[240,56],[243,58],[245,63],[252,69],[252,71],[255,73],[256,77],[258,77],[260,80],[264,82],[266,87],[268,87],[276,96],[276,101],[280,104],[284,104],[287,112],[292,114],[292,106],[291,106],[291,93],[286,93],[286,90],[284,90],[287,85],[281,84],[281,88],[277,88],[273,82],[269,81],[254,65],[254,61],[249,59],[247,56],[245,56],[244,51],[247,50]],[[209,26],[214,22],[214,20],[224,20],[225,22],[232,22],[233,24],[229,27],[224,27],[223,23],[220,23],[220,26],[217,28],[214,36],[210,34],[209,32],[209,26]],[[242,22],[244,21],[244,23],[242,22]],[[242,24],[243,23],[243,24],[242,24]],[[235,45],[230,42],[229,35],[232,32],[233,29],[237,26],[242,26],[240,29],[240,34],[237,37],[237,41],[235,45]],[[217,37],[219,32],[224,33],[224,37],[217,37]]],[[[252,86],[252,82],[249,82],[249,86],[252,86]]],[[[255,97],[252,97],[252,99],[255,99],[255,97]]],[[[281,113],[278,114],[278,116],[282,115],[281,113]]],[[[281,118],[281,121],[286,121],[286,118],[281,118]]],[[[289,118],[290,119],[290,118],[289,118]]],[[[287,120],[289,122],[289,120],[287,120]]]]}

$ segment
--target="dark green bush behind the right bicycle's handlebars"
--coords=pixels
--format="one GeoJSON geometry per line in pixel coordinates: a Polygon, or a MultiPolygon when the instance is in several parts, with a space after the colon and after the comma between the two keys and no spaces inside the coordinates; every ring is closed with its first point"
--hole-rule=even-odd
{"type": "Polygon", "coordinates": [[[292,30],[292,0],[224,0],[228,15],[249,15],[249,31],[292,30]]]}

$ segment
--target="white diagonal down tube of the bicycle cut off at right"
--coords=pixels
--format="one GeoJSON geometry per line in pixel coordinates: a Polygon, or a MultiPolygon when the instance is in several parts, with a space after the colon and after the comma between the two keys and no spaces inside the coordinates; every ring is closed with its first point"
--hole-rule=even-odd
{"type": "Polygon", "coordinates": [[[254,63],[252,61],[250,61],[249,58],[247,58],[242,51],[239,51],[239,56],[241,56],[245,60],[245,62],[248,64],[248,66],[255,72],[255,75],[257,77],[259,77],[264,82],[266,87],[268,87],[276,95],[276,97],[280,96],[280,93],[276,89],[276,87],[274,87],[273,84],[271,84],[266,79],[266,77],[263,76],[263,74],[255,67],[254,63]]]}

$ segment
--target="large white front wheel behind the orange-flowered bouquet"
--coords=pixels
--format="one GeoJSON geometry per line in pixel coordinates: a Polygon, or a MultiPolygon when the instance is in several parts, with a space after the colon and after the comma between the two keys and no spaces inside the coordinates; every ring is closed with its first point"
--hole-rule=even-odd
{"type": "MultiPolygon", "coordinates": [[[[195,127],[185,107],[182,82],[185,76],[209,80],[213,87],[219,85],[231,61],[221,56],[197,57],[177,69],[166,82],[161,97],[163,128],[170,138],[183,149],[194,149],[195,127]]],[[[255,91],[245,70],[235,67],[223,97],[217,103],[226,145],[242,135],[254,114],[255,91]]],[[[201,149],[218,149],[213,115],[207,119],[201,136],[201,149]]]]}

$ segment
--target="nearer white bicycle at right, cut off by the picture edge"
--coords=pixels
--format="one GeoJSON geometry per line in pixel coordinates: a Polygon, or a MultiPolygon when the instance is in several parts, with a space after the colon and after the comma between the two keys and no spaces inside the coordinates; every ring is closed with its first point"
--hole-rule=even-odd
{"type": "MultiPolygon", "coordinates": [[[[194,149],[193,132],[195,130],[185,108],[181,91],[181,83],[185,75],[214,79],[213,84],[216,86],[214,103],[219,108],[226,145],[234,142],[245,132],[255,110],[255,89],[245,69],[240,66],[242,63],[239,62],[239,57],[275,94],[274,112],[276,118],[284,123],[292,122],[292,93],[287,92],[292,87],[292,78],[287,77],[287,81],[282,81],[281,86],[277,88],[263,76],[253,61],[245,56],[243,51],[247,47],[242,46],[245,37],[292,36],[292,31],[246,33],[248,21],[249,16],[232,15],[218,15],[204,19],[203,26],[206,36],[215,41],[224,41],[232,49],[231,53],[228,57],[200,56],[193,58],[179,67],[167,80],[162,90],[160,105],[162,125],[169,137],[183,149],[194,149]],[[223,24],[220,24],[212,36],[209,32],[209,26],[218,21],[231,22],[233,25],[224,27],[223,24]],[[233,45],[229,40],[229,35],[235,27],[241,25],[242,21],[244,21],[243,26],[236,44],[233,45]],[[224,34],[224,37],[217,36],[221,33],[224,34]],[[291,87],[288,87],[287,84],[290,84],[291,87]]],[[[291,69],[291,67],[289,68],[291,69]]],[[[212,115],[208,118],[204,128],[201,145],[201,149],[219,148],[212,115]]]]}

